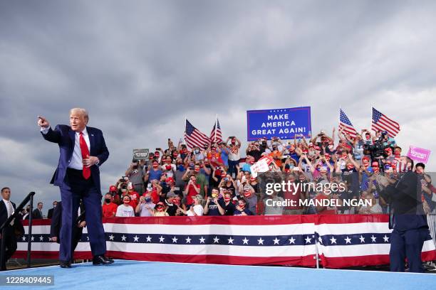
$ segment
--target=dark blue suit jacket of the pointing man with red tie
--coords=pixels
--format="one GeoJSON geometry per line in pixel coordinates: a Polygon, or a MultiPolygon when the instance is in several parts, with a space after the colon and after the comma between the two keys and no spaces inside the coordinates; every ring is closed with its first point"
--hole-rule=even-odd
{"type": "MultiPolygon", "coordinates": [[[[108,147],[106,147],[105,139],[103,138],[103,132],[100,129],[86,127],[86,131],[88,131],[90,142],[89,154],[90,156],[98,157],[100,160],[98,166],[93,165],[90,167],[90,171],[95,188],[97,188],[98,192],[101,194],[100,170],[98,167],[108,159],[109,151],[108,147]]],[[[57,143],[61,151],[58,168],[56,168],[50,183],[54,184],[55,186],[68,186],[68,183],[66,182],[66,169],[68,168],[68,164],[71,162],[71,158],[73,157],[76,132],[67,125],[57,125],[54,130],[49,128],[47,134],[43,134],[42,132],[41,134],[47,141],[57,143]]]]}

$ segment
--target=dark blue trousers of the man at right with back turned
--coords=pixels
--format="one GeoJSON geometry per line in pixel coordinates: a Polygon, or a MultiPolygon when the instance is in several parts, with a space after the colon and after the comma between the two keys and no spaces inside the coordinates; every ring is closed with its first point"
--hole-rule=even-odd
{"type": "Polygon", "coordinates": [[[390,234],[390,271],[404,272],[405,258],[408,258],[410,272],[422,273],[421,252],[425,238],[428,235],[427,228],[413,230],[393,230],[390,234]]]}

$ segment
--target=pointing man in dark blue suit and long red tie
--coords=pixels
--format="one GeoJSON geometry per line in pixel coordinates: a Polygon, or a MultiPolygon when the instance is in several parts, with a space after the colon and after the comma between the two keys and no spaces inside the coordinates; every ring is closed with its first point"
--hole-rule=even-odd
{"type": "Polygon", "coordinates": [[[88,112],[75,108],[70,111],[70,126],[57,125],[51,129],[44,117],[38,117],[41,134],[47,141],[57,143],[61,151],[58,168],[51,183],[61,190],[62,226],[59,238],[59,264],[71,267],[73,256],[73,227],[76,226],[78,206],[83,200],[86,225],[93,253],[93,264],[111,264],[105,257],[105,232],[101,221],[101,190],[99,167],[108,159],[109,151],[99,129],[87,127],[88,112]]]}

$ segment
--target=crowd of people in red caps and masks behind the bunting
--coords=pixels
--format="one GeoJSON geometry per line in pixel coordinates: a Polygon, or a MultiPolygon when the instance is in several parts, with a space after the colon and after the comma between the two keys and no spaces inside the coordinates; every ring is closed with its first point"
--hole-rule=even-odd
{"type": "Polygon", "coordinates": [[[425,213],[435,213],[432,195],[436,190],[425,164],[413,166],[402,151],[386,131],[372,134],[365,129],[355,138],[334,128],[331,136],[321,131],[310,139],[303,135],[287,141],[261,138],[245,148],[235,136],[192,149],[181,141],[175,146],[168,139],[167,149],[157,148],[147,160],[133,160],[125,175],[110,186],[103,217],[387,213],[383,189],[409,170],[419,176],[425,213]],[[266,195],[262,175],[251,174],[251,166],[265,158],[269,161],[265,176],[276,182],[343,183],[345,190],[327,194],[301,187],[297,192],[266,195]],[[371,206],[267,205],[269,199],[323,198],[366,199],[371,206]]]}

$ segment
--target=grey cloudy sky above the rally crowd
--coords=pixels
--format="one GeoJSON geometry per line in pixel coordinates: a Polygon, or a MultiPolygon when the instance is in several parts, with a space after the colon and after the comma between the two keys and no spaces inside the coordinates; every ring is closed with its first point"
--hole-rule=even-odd
{"type": "Polygon", "coordinates": [[[36,116],[66,124],[71,107],[105,134],[105,188],[185,116],[246,140],[247,109],[311,106],[313,131],[331,131],[340,106],[369,128],[373,105],[403,149],[434,151],[435,15],[435,1],[0,1],[0,185],[51,207],[58,148],[36,116]]]}

